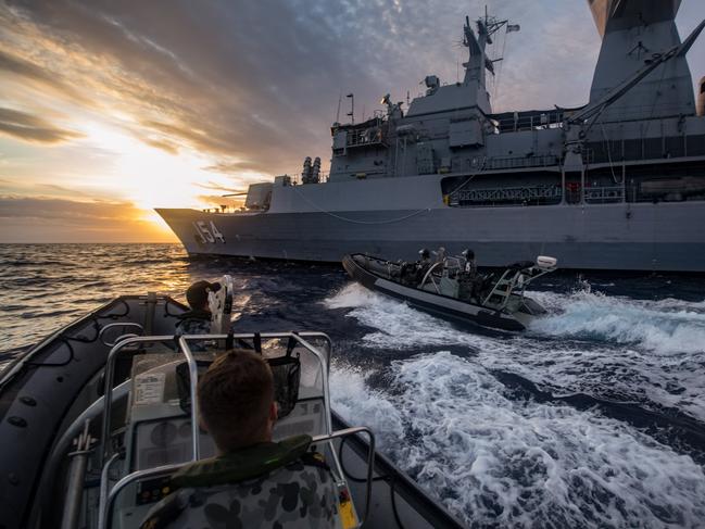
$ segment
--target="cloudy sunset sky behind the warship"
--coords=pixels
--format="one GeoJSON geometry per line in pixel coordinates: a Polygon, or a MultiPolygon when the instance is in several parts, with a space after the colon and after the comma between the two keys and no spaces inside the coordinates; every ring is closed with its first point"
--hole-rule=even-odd
{"type": "MultiPolygon", "coordinates": [[[[491,52],[494,111],[588,101],[584,0],[0,0],[0,242],[176,241],[153,207],[238,205],[222,194],[326,165],[341,95],[362,119],[462,79],[486,3],[521,26],[491,52]]],[[[703,18],[683,0],[681,37],[703,18]]],[[[705,75],[705,36],[689,63],[705,75]]]]}

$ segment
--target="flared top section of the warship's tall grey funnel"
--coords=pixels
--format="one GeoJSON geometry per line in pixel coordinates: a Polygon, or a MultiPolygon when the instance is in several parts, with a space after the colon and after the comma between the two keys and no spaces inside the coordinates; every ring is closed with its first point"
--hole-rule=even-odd
{"type": "Polygon", "coordinates": [[[672,21],[681,0],[588,0],[592,17],[604,37],[614,29],[672,21]]]}

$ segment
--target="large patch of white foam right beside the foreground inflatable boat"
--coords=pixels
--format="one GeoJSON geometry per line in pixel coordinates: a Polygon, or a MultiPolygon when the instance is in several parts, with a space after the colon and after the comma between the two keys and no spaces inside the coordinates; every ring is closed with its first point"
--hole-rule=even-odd
{"type": "Polygon", "coordinates": [[[386,451],[468,524],[694,527],[705,517],[702,467],[622,423],[511,401],[483,367],[449,352],[395,361],[389,375],[381,393],[364,374],[338,371],[336,410],[391,429],[386,451]]]}

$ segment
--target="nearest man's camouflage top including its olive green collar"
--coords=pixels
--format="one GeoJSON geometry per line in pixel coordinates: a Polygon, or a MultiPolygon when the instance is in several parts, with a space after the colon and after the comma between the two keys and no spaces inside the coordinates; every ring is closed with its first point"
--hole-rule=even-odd
{"type": "Polygon", "coordinates": [[[190,463],[141,528],[340,528],[335,478],[310,444],[310,436],[294,436],[190,463]]]}

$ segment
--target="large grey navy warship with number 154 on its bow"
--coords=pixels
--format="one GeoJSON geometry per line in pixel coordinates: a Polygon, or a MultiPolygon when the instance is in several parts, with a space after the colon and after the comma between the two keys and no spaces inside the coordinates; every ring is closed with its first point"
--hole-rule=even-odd
{"type": "MultiPolygon", "coordinates": [[[[464,77],[426,76],[333,123],[329,174],[250,186],[239,211],[160,209],[190,254],[411,260],[470,245],[482,266],[556,256],[579,269],[705,272],[705,77],[697,99],[680,0],[589,0],[602,48],[581,106],[494,113],[488,53],[506,20],[465,18],[464,77]]],[[[351,95],[352,96],[352,95],[351,95]]],[[[354,101],[354,100],[353,100],[354,101]]]]}

